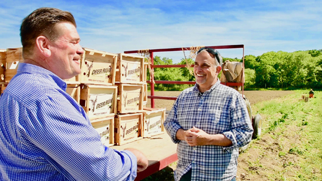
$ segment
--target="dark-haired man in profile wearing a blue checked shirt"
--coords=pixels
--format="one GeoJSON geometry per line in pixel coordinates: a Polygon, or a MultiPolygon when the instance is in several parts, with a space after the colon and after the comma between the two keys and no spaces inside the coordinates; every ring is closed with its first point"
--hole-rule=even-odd
{"type": "Polygon", "coordinates": [[[66,93],[84,53],[73,16],[40,8],[20,31],[24,61],[0,98],[0,180],[134,180],[147,158],[104,146],[66,93]]]}

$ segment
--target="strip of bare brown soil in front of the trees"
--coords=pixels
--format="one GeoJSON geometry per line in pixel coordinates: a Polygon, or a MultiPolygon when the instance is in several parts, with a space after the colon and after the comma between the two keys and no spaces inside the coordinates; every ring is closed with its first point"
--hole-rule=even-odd
{"type": "MultiPolygon", "coordinates": [[[[181,91],[155,91],[154,96],[177,97],[180,93],[181,91]]],[[[291,93],[292,91],[244,91],[244,95],[250,100],[251,105],[262,101],[284,97],[291,93]]],[[[151,95],[150,92],[148,92],[148,95],[151,95]]],[[[154,100],[155,108],[167,108],[167,111],[171,110],[174,103],[175,101],[172,100],[154,100]]],[[[151,107],[150,99],[148,99],[146,107],[151,107]]]]}

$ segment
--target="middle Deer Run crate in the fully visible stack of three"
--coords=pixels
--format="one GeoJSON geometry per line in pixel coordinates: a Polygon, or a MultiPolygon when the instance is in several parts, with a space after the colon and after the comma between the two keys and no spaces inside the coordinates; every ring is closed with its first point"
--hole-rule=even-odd
{"type": "Polygon", "coordinates": [[[118,113],[136,113],[143,110],[143,84],[116,83],[115,85],[118,85],[118,113]]]}

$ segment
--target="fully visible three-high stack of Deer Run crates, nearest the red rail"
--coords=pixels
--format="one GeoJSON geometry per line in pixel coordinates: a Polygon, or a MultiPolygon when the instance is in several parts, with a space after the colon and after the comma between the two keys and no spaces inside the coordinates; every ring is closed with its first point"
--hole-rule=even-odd
{"type": "Polygon", "coordinates": [[[115,144],[143,138],[144,57],[118,54],[115,85],[118,86],[115,144]]]}

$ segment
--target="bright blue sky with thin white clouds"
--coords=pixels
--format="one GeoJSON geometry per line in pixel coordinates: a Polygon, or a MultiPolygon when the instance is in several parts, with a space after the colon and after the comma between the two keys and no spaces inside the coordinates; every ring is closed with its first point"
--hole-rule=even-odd
{"type": "MultiPolygon", "coordinates": [[[[22,47],[21,22],[40,7],[71,12],[81,45],[111,53],[238,44],[245,45],[245,55],[255,56],[322,49],[322,1],[310,0],[2,0],[0,49],[22,47]]],[[[219,52],[223,57],[243,56],[242,49],[219,52]]],[[[154,55],[172,58],[174,63],[184,57],[181,51],[154,55]]]]}

